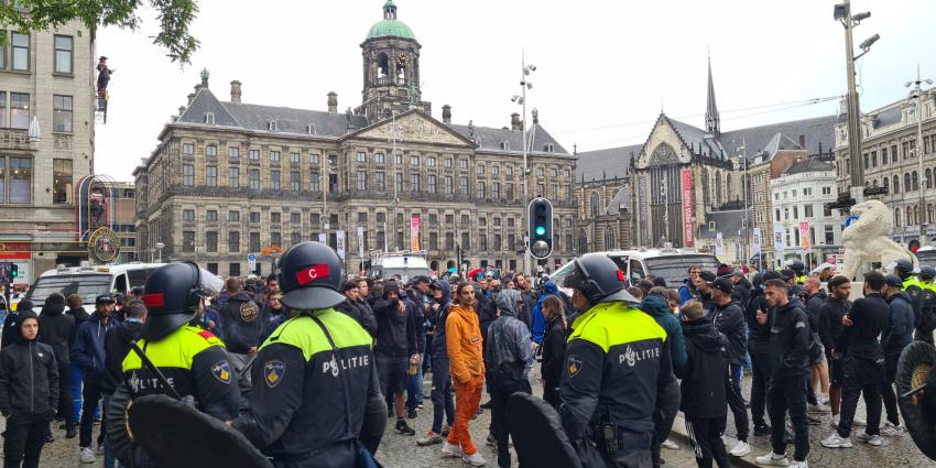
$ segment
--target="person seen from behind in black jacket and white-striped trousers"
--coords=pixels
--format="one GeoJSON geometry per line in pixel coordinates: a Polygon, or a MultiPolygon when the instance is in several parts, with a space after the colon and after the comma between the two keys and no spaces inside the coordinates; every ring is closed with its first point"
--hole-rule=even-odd
{"type": "Polygon", "coordinates": [[[686,415],[686,432],[695,447],[699,468],[728,468],[728,453],[721,442],[725,433],[728,373],[728,341],[719,334],[698,301],[683,305],[683,336],[686,340],[686,366],[677,369],[683,379],[679,409],[686,415]]]}

